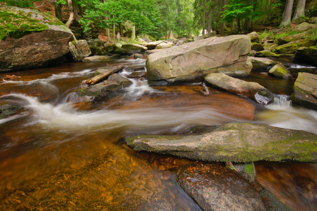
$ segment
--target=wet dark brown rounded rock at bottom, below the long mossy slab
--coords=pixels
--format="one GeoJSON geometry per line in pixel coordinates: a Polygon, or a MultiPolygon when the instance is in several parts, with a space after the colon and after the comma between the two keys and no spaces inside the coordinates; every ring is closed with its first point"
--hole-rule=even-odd
{"type": "Polygon", "coordinates": [[[176,181],[204,211],[265,211],[261,196],[235,170],[217,164],[185,165],[176,181]]]}

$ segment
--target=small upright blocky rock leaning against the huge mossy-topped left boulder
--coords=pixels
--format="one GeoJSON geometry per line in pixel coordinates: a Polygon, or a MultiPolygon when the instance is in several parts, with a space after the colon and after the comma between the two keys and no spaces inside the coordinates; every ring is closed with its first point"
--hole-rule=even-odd
{"type": "Polygon", "coordinates": [[[85,57],[91,54],[86,40],[74,40],[73,42],[69,42],[68,45],[75,62],[81,62],[85,57]]]}

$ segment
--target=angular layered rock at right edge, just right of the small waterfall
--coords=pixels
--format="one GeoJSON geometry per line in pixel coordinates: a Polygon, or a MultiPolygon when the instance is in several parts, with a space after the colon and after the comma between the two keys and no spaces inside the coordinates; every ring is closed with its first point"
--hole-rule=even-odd
{"type": "Polygon", "coordinates": [[[291,100],[309,109],[317,110],[317,75],[298,73],[291,100]]]}

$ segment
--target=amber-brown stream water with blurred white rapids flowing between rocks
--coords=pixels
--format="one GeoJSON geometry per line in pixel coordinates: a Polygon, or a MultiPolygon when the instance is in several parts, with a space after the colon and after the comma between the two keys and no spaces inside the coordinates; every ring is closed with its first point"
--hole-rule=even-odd
{"type": "MultiPolygon", "coordinates": [[[[145,67],[145,60],[108,64],[145,67]]],[[[0,100],[23,105],[16,115],[0,120],[0,210],[200,210],[173,177],[176,168],[196,161],[136,152],[120,138],[229,122],[317,132],[317,112],[288,100],[294,81],[259,72],[244,80],[275,93],[273,105],[263,107],[213,88],[205,96],[199,84],[149,87],[139,79],[97,102],[68,102],[81,81],[108,64],[13,72],[21,78],[0,83],[0,100]]],[[[295,210],[315,210],[316,164],[294,165],[258,162],[257,179],[295,210]],[[284,175],[301,185],[283,186],[284,175]]]]}

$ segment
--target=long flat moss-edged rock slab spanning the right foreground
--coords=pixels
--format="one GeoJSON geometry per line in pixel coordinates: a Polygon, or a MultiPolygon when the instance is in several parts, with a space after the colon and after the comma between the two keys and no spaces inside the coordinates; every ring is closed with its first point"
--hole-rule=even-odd
{"type": "Polygon", "coordinates": [[[202,161],[317,162],[317,135],[258,124],[197,127],[176,135],[136,135],[125,142],[138,151],[202,161]]]}

